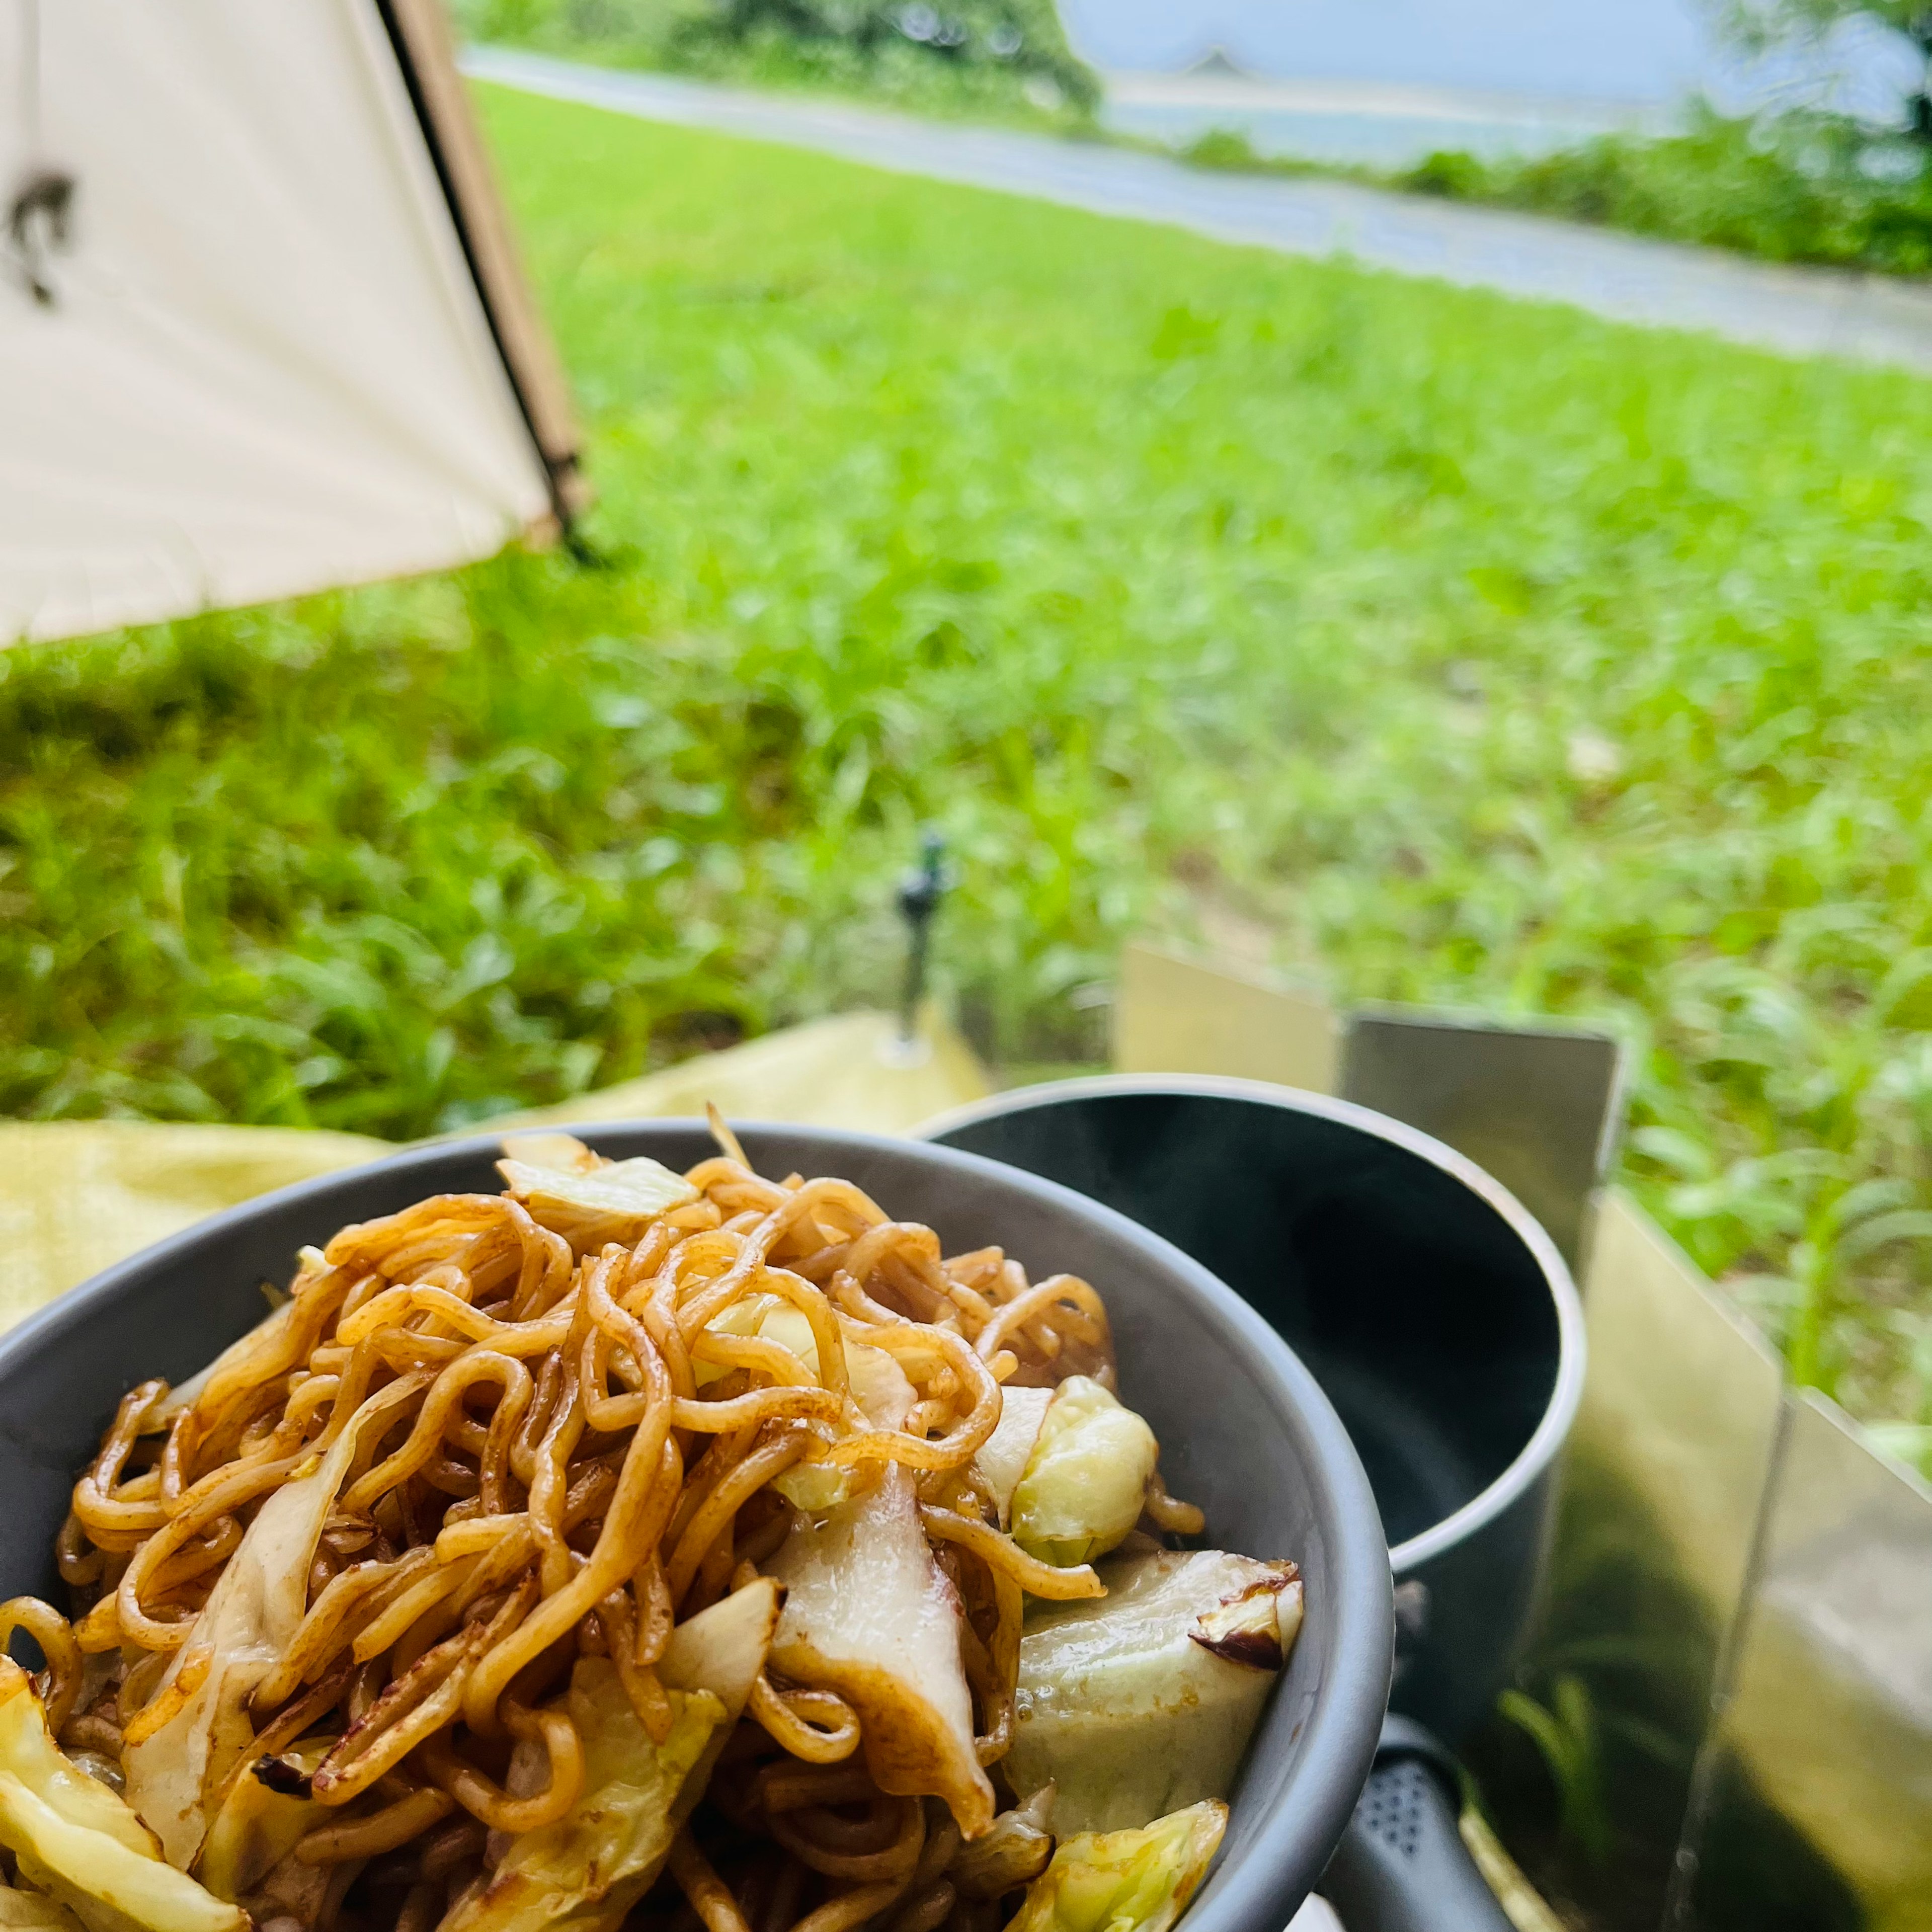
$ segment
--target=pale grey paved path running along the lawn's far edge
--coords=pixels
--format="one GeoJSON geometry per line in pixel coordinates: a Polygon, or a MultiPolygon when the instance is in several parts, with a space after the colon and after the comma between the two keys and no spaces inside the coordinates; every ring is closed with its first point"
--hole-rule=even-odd
{"type": "Polygon", "coordinates": [[[1215,174],[1132,149],[920,122],[506,48],[473,48],[464,68],[558,100],[811,147],[1094,214],[1167,222],[1217,242],[1347,255],[1401,274],[1565,301],[1615,321],[1710,330],[1787,355],[1845,355],[1932,373],[1932,290],[1878,276],[1777,269],[1349,182],[1215,174]]]}

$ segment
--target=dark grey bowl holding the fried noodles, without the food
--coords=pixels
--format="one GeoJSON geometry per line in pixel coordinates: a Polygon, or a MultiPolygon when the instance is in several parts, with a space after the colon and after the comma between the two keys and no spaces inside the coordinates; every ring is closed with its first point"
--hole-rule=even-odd
{"type": "MultiPolygon", "coordinates": [[[[690,1167],[703,1126],[578,1132],[612,1157],[690,1167]]],[[[1037,1279],[1066,1269],[1107,1298],[1121,1391],[1153,1424],[1177,1495],[1211,1538],[1294,1557],[1308,1617],[1262,1719],[1227,1845],[1188,1932],[1279,1932],[1321,1876],[1368,1777],[1389,1690],[1389,1557],[1368,1478],[1335,1410],[1287,1345],[1179,1248],[1049,1180],[970,1153],[796,1126],[742,1130],[771,1175],[842,1175],[949,1252],[999,1242],[1037,1279]]],[[[495,1190],[497,1140],[398,1153],[284,1188],[97,1275],[0,1339],[0,1596],[52,1594],[73,1476],[147,1376],[182,1378],[261,1320],[263,1281],[296,1250],[439,1192],[495,1190]]],[[[58,1598],[56,1598],[58,1600],[58,1598]]]]}

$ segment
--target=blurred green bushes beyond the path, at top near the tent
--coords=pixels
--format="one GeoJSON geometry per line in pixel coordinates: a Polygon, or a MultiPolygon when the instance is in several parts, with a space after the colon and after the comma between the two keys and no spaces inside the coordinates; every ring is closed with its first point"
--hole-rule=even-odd
{"type": "Polygon", "coordinates": [[[1084,124],[1099,83],[1053,0],[456,0],[473,41],[922,112],[1084,124]]]}

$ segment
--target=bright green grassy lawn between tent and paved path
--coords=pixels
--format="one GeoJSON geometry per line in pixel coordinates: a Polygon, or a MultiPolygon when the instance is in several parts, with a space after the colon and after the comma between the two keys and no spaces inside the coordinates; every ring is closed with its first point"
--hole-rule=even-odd
{"type": "Polygon", "coordinates": [[[1644,1198],[1932,1422],[1932,388],[487,97],[603,568],[0,657],[0,1109],[460,1124],[1142,920],[1607,1018],[1644,1198]]]}

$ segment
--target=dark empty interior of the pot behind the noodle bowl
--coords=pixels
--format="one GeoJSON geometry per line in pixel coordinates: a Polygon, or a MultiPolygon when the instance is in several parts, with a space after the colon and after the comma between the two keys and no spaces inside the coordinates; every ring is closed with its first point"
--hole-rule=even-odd
{"type": "Polygon", "coordinates": [[[1308,1364],[1393,1546],[1490,1488],[1557,1387],[1542,1264],[1463,1179],[1366,1126],[1211,1092],[1024,1090],[941,1128],[1165,1235],[1308,1364]]]}

